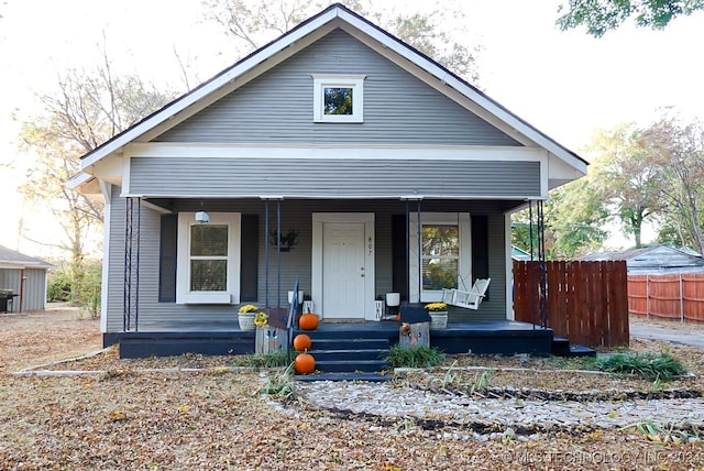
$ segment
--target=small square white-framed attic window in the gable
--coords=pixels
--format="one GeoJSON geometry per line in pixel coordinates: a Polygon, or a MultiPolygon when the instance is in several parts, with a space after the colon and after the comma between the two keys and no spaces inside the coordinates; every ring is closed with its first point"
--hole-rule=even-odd
{"type": "Polygon", "coordinates": [[[363,122],[364,75],[314,75],[315,122],[363,122]]]}

